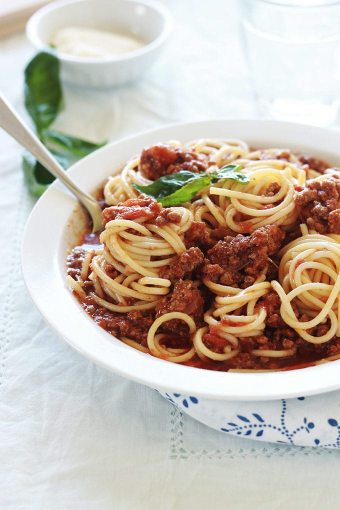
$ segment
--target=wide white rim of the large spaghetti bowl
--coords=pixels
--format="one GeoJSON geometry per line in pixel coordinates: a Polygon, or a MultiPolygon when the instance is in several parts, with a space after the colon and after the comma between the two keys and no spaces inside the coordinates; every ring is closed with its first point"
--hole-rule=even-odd
{"type": "MultiPolygon", "coordinates": [[[[100,169],[100,165],[105,163],[107,166],[112,164],[110,168],[114,172],[115,164],[118,164],[117,161],[114,163],[114,158],[118,158],[119,151],[124,153],[126,161],[128,159],[126,154],[130,148],[135,150],[136,147],[176,139],[176,134],[177,139],[189,141],[204,136],[215,138],[218,137],[217,133],[220,133],[220,138],[223,137],[223,133],[224,136],[237,138],[240,133],[246,134],[247,131],[253,133],[251,136],[258,140],[263,139],[264,132],[267,133],[269,141],[268,143],[264,141],[262,146],[273,146],[272,139],[275,136],[279,138],[282,136],[275,135],[275,132],[280,130],[292,140],[300,136],[301,142],[297,143],[302,150],[307,143],[306,140],[311,139],[310,147],[314,146],[316,140],[320,140],[320,150],[323,152],[325,147],[328,147],[331,155],[334,148],[333,158],[340,160],[340,149],[337,148],[339,134],[336,131],[281,121],[218,119],[166,124],[159,129],[121,138],[98,149],[73,165],[67,172],[78,182],[87,177],[92,179],[93,183],[100,184],[98,176],[90,177],[90,170],[93,167],[100,169]]],[[[129,157],[133,157],[134,154],[135,152],[129,154],[129,157]]],[[[321,153],[318,154],[317,149],[312,155],[322,156],[321,153]]],[[[109,174],[110,171],[106,169],[102,176],[109,174]]],[[[93,188],[89,186],[89,182],[85,183],[85,189],[91,191],[93,188]]],[[[203,398],[239,401],[277,400],[321,394],[340,388],[340,360],[283,372],[215,372],[159,360],[114,339],[81,309],[65,284],[65,270],[63,272],[59,267],[58,227],[65,226],[76,205],[77,201],[67,191],[65,192],[61,183],[54,182],[40,197],[30,214],[21,249],[21,269],[31,299],[48,325],[75,350],[93,362],[146,386],[203,398]],[[56,218],[53,211],[57,209],[59,214],[56,218]],[[51,221],[57,228],[57,235],[49,228],[51,221]],[[41,228],[44,232],[43,245],[41,228]],[[52,294],[46,295],[46,286],[50,290],[53,289],[52,294]],[[56,302],[58,297],[61,298],[61,302],[56,302]],[[65,321],[65,317],[69,322],[65,321]],[[83,338],[79,338],[80,336],[83,338]],[[99,344],[102,350],[99,349],[99,344]]]]}

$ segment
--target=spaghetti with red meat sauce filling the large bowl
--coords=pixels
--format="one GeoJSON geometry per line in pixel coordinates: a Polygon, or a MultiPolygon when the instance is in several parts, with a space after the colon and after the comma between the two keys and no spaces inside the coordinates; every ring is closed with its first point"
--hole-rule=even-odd
{"type": "Polygon", "coordinates": [[[236,139],[171,141],[144,149],[102,194],[104,230],[70,252],[67,282],[109,333],[213,370],[340,358],[337,168],[236,139]],[[212,180],[162,207],[169,176],[195,180],[226,165],[244,179],[212,180]],[[160,197],[140,192],[164,177],[160,197]]]}

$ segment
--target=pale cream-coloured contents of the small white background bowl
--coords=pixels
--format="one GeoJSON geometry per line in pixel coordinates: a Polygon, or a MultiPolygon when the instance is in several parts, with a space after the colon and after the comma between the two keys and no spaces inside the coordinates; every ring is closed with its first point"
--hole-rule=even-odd
{"type": "Polygon", "coordinates": [[[82,27],[64,27],[49,42],[61,53],[98,58],[133,52],[146,44],[134,36],[82,27]]]}

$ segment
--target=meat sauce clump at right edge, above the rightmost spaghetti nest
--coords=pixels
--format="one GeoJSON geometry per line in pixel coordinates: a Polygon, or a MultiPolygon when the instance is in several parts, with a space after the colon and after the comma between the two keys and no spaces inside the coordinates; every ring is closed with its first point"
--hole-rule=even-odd
{"type": "Polygon", "coordinates": [[[340,234],[340,180],[310,181],[294,197],[302,221],[320,234],[340,234]]]}

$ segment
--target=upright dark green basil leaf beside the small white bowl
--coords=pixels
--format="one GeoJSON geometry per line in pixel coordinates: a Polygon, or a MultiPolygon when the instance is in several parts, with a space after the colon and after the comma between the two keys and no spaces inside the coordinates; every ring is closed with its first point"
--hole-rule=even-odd
{"type": "Polygon", "coordinates": [[[62,98],[59,60],[38,53],[24,71],[24,101],[40,137],[60,112],[62,98]]]}

